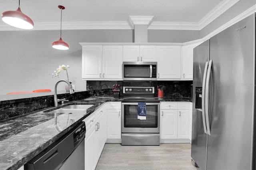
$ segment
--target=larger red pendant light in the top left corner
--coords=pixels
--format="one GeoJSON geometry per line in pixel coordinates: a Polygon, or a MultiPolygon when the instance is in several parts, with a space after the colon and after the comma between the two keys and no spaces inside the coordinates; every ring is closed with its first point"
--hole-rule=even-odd
{"type": "Polygon", "coordinates": [[[20,0],[19,7],[16,11],[5,11],[2,13],[2,20],[9,24],[22,29],[32,29],[34,27],[34,22],[20,10],[20,0]]]}

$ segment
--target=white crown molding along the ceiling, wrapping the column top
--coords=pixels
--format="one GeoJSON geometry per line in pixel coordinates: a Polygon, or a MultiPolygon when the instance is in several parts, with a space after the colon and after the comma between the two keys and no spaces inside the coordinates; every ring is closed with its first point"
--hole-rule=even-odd
{"type": "MultiPolygon", "coordinates": [[[[134,24],[148,25],[150,30],[202,30],[238,1],[223,0],[199,22],[152,22],[154,16],[129,16],[129,21],[62,22],[62,30],[132,30],[134,29],[134,24]]],[[[0,23],[0,31],[21,30],[5,23],[0,23]]],[[[60,22],[35,22],[32,30],[60,30],[60,22]]]]}

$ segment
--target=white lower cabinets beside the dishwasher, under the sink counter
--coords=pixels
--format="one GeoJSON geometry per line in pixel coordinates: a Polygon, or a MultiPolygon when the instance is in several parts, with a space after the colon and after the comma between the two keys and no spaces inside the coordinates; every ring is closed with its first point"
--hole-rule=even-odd
{"type": "Polygon", "coordinates": [[[107,138],[106,104],[83,121],[86,123],[85,169],[93,170],[96,168],[107,138]]]}

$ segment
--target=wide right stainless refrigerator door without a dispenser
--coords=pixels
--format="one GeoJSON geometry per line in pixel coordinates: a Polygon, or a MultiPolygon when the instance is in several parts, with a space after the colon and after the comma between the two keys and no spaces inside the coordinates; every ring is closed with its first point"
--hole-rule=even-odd
{"type": "Polygon", "coordinates": [[[254,48],[254,15],[210,38],[216,91],[209,94],[207,170],[252,169],[254,48]]]}

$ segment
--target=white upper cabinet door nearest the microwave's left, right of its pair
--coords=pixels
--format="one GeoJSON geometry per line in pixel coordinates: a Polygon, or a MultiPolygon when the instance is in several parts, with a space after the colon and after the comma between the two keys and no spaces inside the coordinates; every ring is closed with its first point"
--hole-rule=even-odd
{"type": "Polygon", "coordinates": [[[122,45],[103,45],[102,77],[104,79],[122,79],[122,45]]]}

